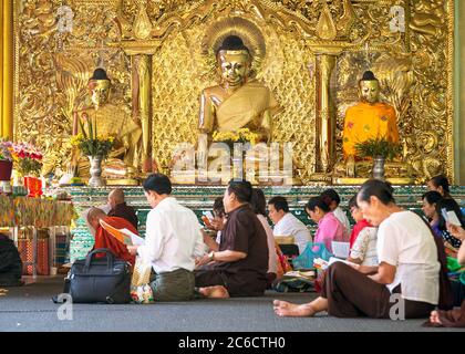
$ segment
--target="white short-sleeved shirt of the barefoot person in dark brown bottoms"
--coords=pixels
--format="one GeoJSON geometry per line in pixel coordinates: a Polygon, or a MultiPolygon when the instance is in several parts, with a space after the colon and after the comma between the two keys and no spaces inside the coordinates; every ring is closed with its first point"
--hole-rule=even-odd
{"type": "Polygon", "coordinates": [[[378,230],[378,258],[396,267],[392,290],[401,284],[402,298],[437,304],[440,269],[431,230],[412,211],[392,214],[378,230]]]}

